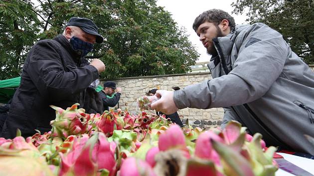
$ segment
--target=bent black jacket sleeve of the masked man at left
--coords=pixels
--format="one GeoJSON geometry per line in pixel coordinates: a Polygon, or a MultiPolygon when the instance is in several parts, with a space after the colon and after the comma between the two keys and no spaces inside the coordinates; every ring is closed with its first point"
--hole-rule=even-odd
{"type": "Polygon", "coordinates": [[[24,67],[40,94],[58,100],[83,91],[98,78],[97,69],[91,65],[67,71],[60,52],[51,41],[39,41],[30,51],[24,67]]]}

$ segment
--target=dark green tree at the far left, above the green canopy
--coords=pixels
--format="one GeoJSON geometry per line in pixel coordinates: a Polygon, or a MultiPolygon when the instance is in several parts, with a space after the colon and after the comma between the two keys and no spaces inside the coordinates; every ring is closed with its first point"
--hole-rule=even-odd
{"type": "Polygon", "coordinates": [[[17,77],[40,21],[30,0],[0,0],[0,80],[17,77]]]}

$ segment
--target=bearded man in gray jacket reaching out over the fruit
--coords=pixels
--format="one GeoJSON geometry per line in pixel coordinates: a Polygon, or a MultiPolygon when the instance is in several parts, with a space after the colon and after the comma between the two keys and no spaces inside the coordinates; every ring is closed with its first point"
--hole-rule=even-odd
{"type": "MultiPolygon", "coordinates": [[[[236,26],[211,9],[193,29],[212,57],[214,79],[175,91],[158,90],[152,108],[166,114],[186,107],[224,107],[224,122],[237,120],[267,145],[314,155],[314,72],[283,39],[262,23],[236,26]]],[[[224,123],[224,124],[225,124],[224,123]]]]}

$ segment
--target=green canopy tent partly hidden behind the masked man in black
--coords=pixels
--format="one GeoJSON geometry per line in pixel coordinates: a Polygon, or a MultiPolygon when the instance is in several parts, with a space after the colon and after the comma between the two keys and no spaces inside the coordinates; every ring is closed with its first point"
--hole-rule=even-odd
{"type": "MultiPolygon", "coordinates": [[[[0,103],[7,103],[13,97],[15,89],[19,87],[21,77],[8,80],[0,80],[0,103]]],[[[96,91],[99,92],[103,87],[98,85],[96,91]]]]}

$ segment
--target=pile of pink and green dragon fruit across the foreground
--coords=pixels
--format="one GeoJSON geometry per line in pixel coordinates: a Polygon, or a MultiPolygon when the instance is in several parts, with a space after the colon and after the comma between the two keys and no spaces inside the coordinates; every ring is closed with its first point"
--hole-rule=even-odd
{"type": "Polygon", "coordinates": [[[223,130],[180,128],[127,110],[56,110],[48,133],[0,138],[1,176],[274,176],[275,147],[238,122],[223,130]]]}

